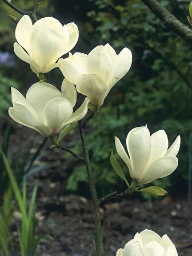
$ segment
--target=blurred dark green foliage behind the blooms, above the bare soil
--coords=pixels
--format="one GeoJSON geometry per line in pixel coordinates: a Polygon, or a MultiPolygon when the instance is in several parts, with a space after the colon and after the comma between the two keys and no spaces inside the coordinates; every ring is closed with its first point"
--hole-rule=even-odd
{"type": "MultiPolygon", "coordinates": [[[[32,0],[11,2],[25,10],[30,10],[34,4],[32,0]]],[[[160,2],[187,25],[189,3],[171,0],[160,2]]],[[[181,134],[178,170],[170,177],[155,181],[155,185],[164,189],[169,187],[169,192],[176,196],[185,196],[189,134],[192,130],[190,44],[169,31],[140,0],[45,0],[37,13],[38,18],[53,15],[62,23],[77,23],[80,36],[72,53],[89,53],[93,47],[107,42],[117,53],[123,47],[129,47],[133,52],[133,65],[129,73],[113,87],[100,114],[90,121],[86,129],[100,196],[125,187],[110,166],[110,153],[115,151],[114,135],[125,146],[129,130],[146,123],[151,133],[165,129],[170,143],[181,134]]],[[[10,105],[10,86],[26,91],[37,81],[27,63],[14,56],[16,25],[9,20],[9,14],[21,17],[0,1],[0,114],[4,110],[5,115],[10,105]]],[[[58,69],[46,77],[57,84],[61,84],[63,79],[58,69]]],[[[81,153],[79,141],[71,141],[69,146],[81,153]]],[[[128,174],[121,159],[119,162],[128,174]]],[[[87,187],[85,167],[75,168],[69,177],[67,190],[86,195],[87,187]]]]}

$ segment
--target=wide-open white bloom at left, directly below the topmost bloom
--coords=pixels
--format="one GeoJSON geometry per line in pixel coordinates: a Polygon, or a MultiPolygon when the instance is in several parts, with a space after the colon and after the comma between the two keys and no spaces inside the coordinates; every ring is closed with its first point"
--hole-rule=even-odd
{"type": "Polygon", "coordinates": [[[60,133],[69,123],[85,117],[90,99],[87,97],[73,113],[76,99],[75,86],[66,79],[62,82],[61,91],[50,83],[34,83],[27,91],[26,98],[11,87],[13,107],[9,108],[9,115],[15,122],[49,137],[60,133]]]}

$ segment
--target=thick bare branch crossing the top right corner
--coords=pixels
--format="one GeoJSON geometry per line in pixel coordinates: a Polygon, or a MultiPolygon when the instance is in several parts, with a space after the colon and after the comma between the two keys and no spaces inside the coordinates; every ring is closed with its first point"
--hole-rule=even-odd
{"type": "Polygon", "coordinates": [[[185,39],[185,41],[192,43],[192,31],[184,25],[182,22],[178,21],[177,18],[165,7],[163,7],[157,0],[141,0],[146,6],[159,18],[162,23],[174,31],[179,37],[185,39]]]}

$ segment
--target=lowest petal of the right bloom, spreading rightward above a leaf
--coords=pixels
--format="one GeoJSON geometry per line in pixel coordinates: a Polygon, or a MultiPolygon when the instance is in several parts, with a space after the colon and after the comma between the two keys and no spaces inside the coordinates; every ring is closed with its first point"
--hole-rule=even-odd
{"type": "Polygon", "coordinates": [[[161,157],[146,168],[138,182],[146,184],[154,181],[154,179],[166,177],[167,175],[173,173],[177,166],[177,157],[174,157],[173,155],[169,157],[161,157]]]}

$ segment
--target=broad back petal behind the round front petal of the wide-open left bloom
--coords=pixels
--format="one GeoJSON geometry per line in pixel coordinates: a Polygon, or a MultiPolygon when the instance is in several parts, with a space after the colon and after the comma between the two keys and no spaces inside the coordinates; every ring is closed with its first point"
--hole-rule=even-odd
{"type": "Polygon", "coordinates": [[[50,83],[34,83],[26,94],[26,100],[34,108],[43,123],[43,110],[47,102],[53,98],[61,97],[61,91],[50,83]]]}

